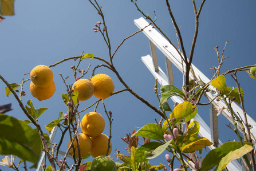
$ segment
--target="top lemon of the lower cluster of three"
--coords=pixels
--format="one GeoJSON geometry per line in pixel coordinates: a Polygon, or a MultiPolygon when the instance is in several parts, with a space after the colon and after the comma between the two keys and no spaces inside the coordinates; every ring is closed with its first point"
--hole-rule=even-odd
{"type": "Polygon", "coordinates": [[[89,112],[82,117],[80,127],[82,133],[90,137],[97,137],[104,131],[105,121],[100,113],[89,112]]]}

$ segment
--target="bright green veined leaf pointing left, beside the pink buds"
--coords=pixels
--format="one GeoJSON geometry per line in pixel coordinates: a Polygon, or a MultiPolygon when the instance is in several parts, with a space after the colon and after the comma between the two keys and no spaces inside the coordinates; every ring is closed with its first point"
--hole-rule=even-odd
{"type": "Polygon", "coordinates": [[[161,127],[156,124],[147,124],[140,128],[132,136],[141,136],[153,140],[164,140],[164,132],[161,127]]]}

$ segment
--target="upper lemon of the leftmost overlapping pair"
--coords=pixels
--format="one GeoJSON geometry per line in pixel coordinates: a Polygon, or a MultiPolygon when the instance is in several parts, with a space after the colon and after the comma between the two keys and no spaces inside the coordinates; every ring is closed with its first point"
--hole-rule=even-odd
{"type": "Polygon", "coordinates": [[[53,71],[44,65],[33,68],[30,79],[37,87],[48,87],[53,82],[53,71]]]}

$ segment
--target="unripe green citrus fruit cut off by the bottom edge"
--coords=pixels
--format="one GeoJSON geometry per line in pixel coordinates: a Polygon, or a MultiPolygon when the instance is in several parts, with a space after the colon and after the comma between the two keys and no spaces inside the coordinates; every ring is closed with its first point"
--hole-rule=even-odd
{"type": "Polygon", "coordinates": [[[116,171],[116,163],[108,156],[99,156],[93,159],[90,171],[116,171]]]}

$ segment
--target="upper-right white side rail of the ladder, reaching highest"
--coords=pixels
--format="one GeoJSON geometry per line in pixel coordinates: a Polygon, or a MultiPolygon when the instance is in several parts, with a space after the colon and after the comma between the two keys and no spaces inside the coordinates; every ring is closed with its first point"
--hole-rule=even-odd
{"type": "MultiPolygon", "coordinates": [[[[140,29],[144,28],[145,26],[147,26],[149,23],[147,21],[145,21],[144,18],[139,18],[139,19],[135,19],[135,25],[137,27],[139,27],[140,29]]],[[[172,44],[170,44],[170,42],[168,42],[168,40],[166,38],[164,38],[155,28],[152,27],[147,27],[143,30],[143,33],[148,37],[149,40],[151,40],[151,42],[153,42],[157,48],[159,48],[159,50],[161,52],[163,52],[163,54],[171,61],[172,64],[174,64],[174,66],[176,66],[178,68],[178,70],[180,72],[183,71],[182,69],[182,59],[178,53],[178,51],[174,48],[174,46],[172,46],[172,44]]],[[[184,58],[184,57],[183,57],[184,58]]],[[[183,63],[183,66],[185,67],[186,65],[183,63]]],[[[202,79],[202,81],[204,83],[210,83],[210,79],[208,79],[200,70],[198,70],[198,68],[196,68],[193,64],[192,64],[192,68],[195,72],[195,76],[196,78],[200,78],[202,79]]],[[[190,73],[190,78],[193,79],[194,76],[190,73]]],[[[210,89],[214,89],[214,87],[209,86],[210,89]]],[[[205,93],[206,97],[208,100],[212,100],[215,95],[212,94],[211,92],[206,92],[205,93]]],[[[226,104],[223,101],[216,101],[214,100],[212,102],[212,104],[215,106],[215,108],[220,108],[220,107],[226,107],[226,104]]],[[[243,111],[242,109],[235,103],[232,103],[232,108],[234,109],[235,113],[239,113],[242,120],[245,120],[245,117],[243,116],[243,111]]],[[[232,120],[230,118],[229,112],[227,111],[227,109],[223,110],[222,113],[229,121],[232,120]]],[[[256,122],[249,116],[247,115],[247,120],[248,123],[251,125],[251,133],[253,135],[256,135],[256,122]]],[[[239,124],[238,124],[239,126],[239,124]]],[[[241,127],[239,127],[241,130],[241,127]]]]}

